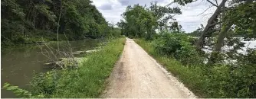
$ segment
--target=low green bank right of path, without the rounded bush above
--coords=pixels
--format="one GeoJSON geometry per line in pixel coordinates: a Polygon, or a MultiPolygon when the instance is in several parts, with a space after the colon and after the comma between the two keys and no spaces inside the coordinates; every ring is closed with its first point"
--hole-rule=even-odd
{"type": "MultiPolygon", "coordinates": [[[[135,41],[198,97],[255,97],[255,90],[251,88],[255,80],[254,65],[250,62],[238,62],[237,68],[233,68],[234,65],[224,64],[197,65],[194,58],[192,64],[184,65],[179,59],[156,53],[154,40],[135,41]]],[[[189,61],[189,57],[185,60],[189,61]]]]}

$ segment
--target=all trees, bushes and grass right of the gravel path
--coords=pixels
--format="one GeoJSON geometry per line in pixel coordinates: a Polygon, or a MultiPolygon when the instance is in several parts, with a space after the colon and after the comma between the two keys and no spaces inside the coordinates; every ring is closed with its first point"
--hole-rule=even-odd
{"type": "MultiPolygon", "coordinates": [[[[187,5],[195,1],[172,3],[187,5]]],[[[256,3],[232,1],[225,6],[227,0],[219,4],[207,2],[217,9],[208,24],[192,34],[185,34],[173,18],[174,14],[181,14],[179,8],[154,3],[148,8],[128,6],[119,26],[127,37],[135,37],[140,46],[199,97],[256,97],[256,50],[238,53],[245,43],[237,37],[255,39],[256,3]],[[164,22],[163,27],[160,27],[161,22],[164,22]],[[223,50],[223,46],[231,49],[223,50]]]]}

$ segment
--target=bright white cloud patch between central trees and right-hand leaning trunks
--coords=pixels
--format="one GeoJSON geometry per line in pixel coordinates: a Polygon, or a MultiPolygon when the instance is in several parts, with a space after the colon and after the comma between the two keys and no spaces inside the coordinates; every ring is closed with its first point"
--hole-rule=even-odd
{"type": "Polygon", "coordinates": [[[205,1],[192,2],[189,5],[179,6],[182,9],[182,14],[176,15],[175,18],[182,25],[182,28],[186,32],[192,32],[200,27],[200,24],[204,26],[207,24],[208,18],[212,16],[215,11],[215,7],[208,8],[210,4],[205,1]],[[205,11],[205,9],[207,9],[205,11]]]}

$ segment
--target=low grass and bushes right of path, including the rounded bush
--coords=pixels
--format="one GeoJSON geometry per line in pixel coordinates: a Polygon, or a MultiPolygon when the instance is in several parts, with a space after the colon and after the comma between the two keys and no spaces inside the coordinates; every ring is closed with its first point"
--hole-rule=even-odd
{"type": "Polygon", "coordinates": [[[256,58],[255,50],[250,49],[247,55],[240,56],[237,65],[207,65],[202,64],[200,59],[203,57],[196,54],[195,46],[187,45],[189,37],[184,37],[184,34],[166,35],[182,43],[169,43],[168,45],[159,43],[162,40],[168,40],[167,37],[151,41],[142,39],[135,41],[196,95],[199,97],[256,97],[254,75],[256,68],[252,60],[256,58]],[[184,38],[181,39],[177,35],[184,38]],[[179,44],[181,44],[181,49],[177,49],[179,44]],[[159,49],[159,47],[166,49],[159,49]],[[177,57],[176,54],[179,56],[177,57]]]}

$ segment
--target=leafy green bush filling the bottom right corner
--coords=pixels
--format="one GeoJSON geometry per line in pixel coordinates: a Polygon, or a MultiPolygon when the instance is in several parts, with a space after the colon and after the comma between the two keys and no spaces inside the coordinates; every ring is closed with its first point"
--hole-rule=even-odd
{"type": "MultiPolygon", "coordinates": [[[[256,58],[255,55],[248,53],[241,59],[256,58]]],[[[212,82],[208,87],[210,94],[213,97],[256,97],[256,64],[252,62],[248,59],[240,60],[237,65],[212,65],[208,73],[212,82]]]]}

